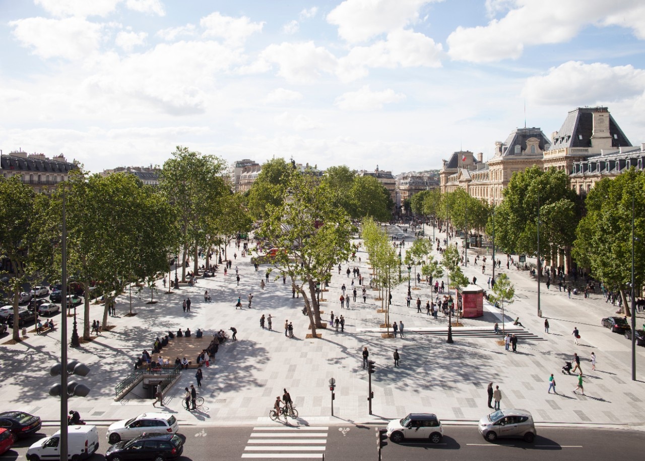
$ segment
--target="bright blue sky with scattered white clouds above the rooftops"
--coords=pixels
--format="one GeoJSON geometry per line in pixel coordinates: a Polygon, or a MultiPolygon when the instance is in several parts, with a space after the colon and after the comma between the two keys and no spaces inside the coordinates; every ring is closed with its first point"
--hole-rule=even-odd
{"type": "Polygon", "coordinates": [[[637,145],[644,45],[642,0],[0,0],[0,149],[397,174],[597,105],[637,145]]]}

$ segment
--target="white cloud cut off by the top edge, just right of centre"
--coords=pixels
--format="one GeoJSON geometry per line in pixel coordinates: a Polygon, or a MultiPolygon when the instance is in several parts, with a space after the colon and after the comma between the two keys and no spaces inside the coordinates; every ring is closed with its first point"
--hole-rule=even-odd
{"type": "Polygon", "coordinates": [[[404,28],[419,18],[421,6],[441,0],[345,0],[327,15],[338,35],[350,43],[404,28]]]}

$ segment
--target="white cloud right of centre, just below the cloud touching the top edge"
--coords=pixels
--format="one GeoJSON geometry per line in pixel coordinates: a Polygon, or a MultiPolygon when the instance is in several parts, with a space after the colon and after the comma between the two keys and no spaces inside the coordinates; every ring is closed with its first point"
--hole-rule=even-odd
{"type": "Polygon", "coordinates": [[[368,67],[441,67],[441,43],[412,30],[395,30],[370,46],[355,46],[339,61],[339,77],[351,81],[368,74],[368,67]]]}

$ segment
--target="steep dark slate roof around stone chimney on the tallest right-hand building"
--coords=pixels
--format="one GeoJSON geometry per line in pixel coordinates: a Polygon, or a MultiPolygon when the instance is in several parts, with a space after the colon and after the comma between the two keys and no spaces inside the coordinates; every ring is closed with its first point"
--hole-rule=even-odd
{"type": "MultiPolygon", "coordinates": [[[[554,133],[551,149],[562,149],[564,147],[591,147],[591,136],[593,135],[593,114],[596,112],[609,112],[606,107],[578,107],[571,110],[564,119],[562,127],[554,133]]],[[[610,114],[610,135],[611,147],[629,147],[630,140],[622,132],[618,123],[610,114]]]]}

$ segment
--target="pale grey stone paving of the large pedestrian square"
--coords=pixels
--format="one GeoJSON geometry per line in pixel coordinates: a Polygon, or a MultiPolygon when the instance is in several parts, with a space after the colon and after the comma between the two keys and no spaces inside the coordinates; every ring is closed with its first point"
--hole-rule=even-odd
{"type": "MultiPolygon", "coordinates": [[[[398,232],[391,227],[391,231],[398,232]]],[[[426,236],[432,228],[426,229],[426,236]]],[[[444,234],[437,236],[444,237],[444,234]]],[[[412,236],[407,237],[404,251],[410,247],[412,236]]],[[[461,247],[461,246],[460,246],[461,247]]],[[[232,251],[229,249],[229,254],[232,251]]],[[[349,263],[361,268],[368,276],[367,255],[359,251],[361,263],[349,263]]],[[[505,255],[500,255],[505,259],[505,255]]],[[[472,258],[471,258],[472,260],[472,258]]],[[[504,261],[505,262],[505,261],[504,261]]],[[[637,348],[637,378],[631,381],[631,343],[619,334],[600,327],[600,318],[616,310],[604,303],[600,295],[589,299],[572,296],[542,285],[542,313],[550,321],[550,334],[544,333],[544,318],[536,315],[537,282],[528,272],[506,270],[516,287],[516,300],[506,308],[506,323],[519,316],[524,331],[517,353],[505,352],[491,335],[484,337],[455,336],[455,343],[446,343],[445,335],[437,330],[447,327],[447,320],[439,315],[435,320],[424,313],[418,314],[414,302],[406,307],[404,297],[407,284],[402,283],[393,293],[390,320],[405,323],[406,330],[433,331],[434,334],[408,334],[404,338],[383,339],[378,331],[383,314],[377,314],[381,302],[373,298],[377,291],[368,290],[366,303],[361,289],[351,309],[341,309],[338,298],[340,286],[345,283],[350,291],[351,278],[344,273],[348,263],[342,264],[342,273],[334,271],[330,291],[324,294],[324,318],[333,311],[346,319],[345,331],[323,331],[321,340],[306,340],[308,318],[303,316],[302,300],[292,298],[289,285],[282,279],[270,280],[264,290],[260,282],[266,265],[255,272],[250,258],[237,258],[233,270],[224,277],[199,279],[195,287],[184,287],[172,294],[155,292],[156,304],[150,300],[150,289],[133,291],[132,311],[136,316],[124,316],[129,309],[128,293],[117,298],[117,316],[110,317],[112,331],[105,331],[79,349],[69,349],[70,359],[90,365],[92,373],[79,382],[92,387],[87,398],[70,398],[70,408],[86,420],[110,421],[152,411],[152,400],[126,399],[114,401],[114,385],[132,370],[135,358],[143,349],[150,351],[156,336],[190,327],[208,332],[237,328],[237,342],[221,345],[214,366],[203,369],[205,399],[204,411],[188,412],[181,405],[181,394],[186,386],[195,383],[194,370],[184,371],[179,382],[166,394],[166,410],[177,415],[183,424],[253,424],[268,421],[267,415],[275,396],[286,387],[299,409],[300,423],[336,420],[370,422],[401,417],[411,411],[437,413],[442,420],[466,422],[479,420],[489,412],[486,406],[488,382],[499,385],[502,407],[521,407],[533,413],[538,422],[558,424],[639,425],[645,420],[645,394],[642,376],[645,373],[645,348],[637,348]],[[235,266],[239,267],[241,282],[235,282],[235,266]],[[233,276],[231,276],[233,274],[233,276]],[[204,302],[204,290],[213,302],[204,302]],[[246,296],[253,292],[252,309],[246,309],[246,296]],[[190,296],[192,309],[183,312],[181,302],[190,296]],[[235,309],[240,296],[244,309],[235,309]],[[261,314],[272,314],[273,331],[261,329],[261,314]],[[293,322],[295,338],[284,336],[285,320],[293,322]],[[571,331],[577,325],[581,343],[575,345],[571,331]],[[362,369],[361,350],[367,346],[370,359],[377,362],[373,375],[373,415],[368,415],[368,376],[362,369]],[[401,366],[394,367],[392,353],[397,348],[401,366]],[[591,351],[597,355],[597,371],[591,371],[588,362],[591,351]],[[585,394],[573,394],[577,377],[563,375],[564,360],[571,360],[577,352],[583,359],[585,394]],[[554,373],[558,394],[547,394],[548,377],[554,373]],[[336,380],[334,418],[330,417],[330,378],[336,380]]],[[[481,266],[464,270],[471,279],[477,276],[484,288],[491,275],[490,263],[486,274],[481,266]]],[[[405,272],[405,270],[404,270],[405,272]]],[[[173,274],[174,276],[174,274],[173,274]]],[[[355,284],[358,280],[355,280],[355,284]]],[[[412,282],[413,283],[413,282],[412,282]]],[[[422,304],[430,294],[427,285],[412,291],[422,304]]],[[[91,318],[101,319],[103,306],[92,305],[91,318]]],[[[484,302],[484,316],[465,319],[464,329],[492,330],[500,322],[501,313],[484,302]]],[[[82,312],[82,309],[81,309],[82,312]]],[[[59,322],[60,316],[55,317],[59,322]]],[[[72,322],[68,319],[71,332],[72,322]]],[[[639,318],[639,325],[642,318],[639,318]]],[[[58,331],[59,332],[59,331],[58,331]]],[[[230,333],[230,332],[229,332],[230,333]]],[[[0,343],[9,338],[0,338],[0,343]]],[[[0,364],[0,398],[5,409],[21,409],[35,413],[43,420],[57,420],[59,399],[48,395],[56,378],[48,374],[51,364],[59,356],[59,333],[29,337],[18,345],[2,345],[0,364]]],[[[194,358],[193,358],[194,359],[194,358]]]]}

